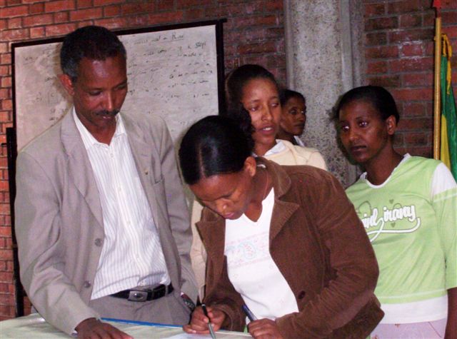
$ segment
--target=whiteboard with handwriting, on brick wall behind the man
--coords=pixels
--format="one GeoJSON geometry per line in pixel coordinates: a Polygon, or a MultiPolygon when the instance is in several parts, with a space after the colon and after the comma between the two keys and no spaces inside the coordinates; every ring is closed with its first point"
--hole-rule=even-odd
{"type": "MultiPolygon", "coordinates": [[[[176,143],[184,131],[223,105],[222,21],[118,31],[127,51],[129,92],[121,112],[164,118],[176,143]]],[[[17,148],[71,108],[58,79],[61,40],[11,45],[17,148]]]]}

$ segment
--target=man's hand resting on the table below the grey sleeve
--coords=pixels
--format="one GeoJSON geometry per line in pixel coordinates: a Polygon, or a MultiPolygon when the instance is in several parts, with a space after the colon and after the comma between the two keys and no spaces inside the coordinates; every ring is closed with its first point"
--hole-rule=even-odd
{"type": "Polygon", "coordinates": [[[108,323],[102,323],[96,318],[81,321],[75,328],[80,339],[134,339],[108,323]]]}

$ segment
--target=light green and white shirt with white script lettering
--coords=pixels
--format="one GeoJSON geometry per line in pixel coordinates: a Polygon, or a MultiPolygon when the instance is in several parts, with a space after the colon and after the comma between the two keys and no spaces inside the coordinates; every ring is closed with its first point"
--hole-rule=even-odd
{"type": "Polygon", "coordinates": [[[366,173],[346,190],[378,259],[381,323],[446,318],[457,287],[457,184],[433,159],[406,154],[381,185],[366,173]]]}

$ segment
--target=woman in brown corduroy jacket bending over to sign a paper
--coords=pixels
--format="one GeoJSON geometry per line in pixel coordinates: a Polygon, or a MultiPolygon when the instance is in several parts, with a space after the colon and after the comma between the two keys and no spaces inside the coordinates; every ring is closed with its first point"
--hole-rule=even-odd
{"type": "Polygon", "coordinates": [[[383,316],[378,265],[343,188],[321,169],[253,158],[252,146],[221,116],[181,142],[208,253],[207,316],[196,308],[184,330],[243,330],[247,305],[254,338],[366,338],[383,316]]]}

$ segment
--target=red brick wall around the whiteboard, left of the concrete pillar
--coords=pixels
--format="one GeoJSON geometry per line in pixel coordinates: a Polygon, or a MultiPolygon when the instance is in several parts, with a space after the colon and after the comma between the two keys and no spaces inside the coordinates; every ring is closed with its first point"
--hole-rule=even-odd
{"type": "MultiPolygon", "coordinates": [[[[110,29],[226,18],[226,70],[246,63],[266,66],[285,81],[283,1],[221,0],[0,0],[0,143],[12,125],[12,42],[61,36],[79,26],[110,29]]],[[[14,317],[6,148],[0,151],[0,320],[14,317]]]]}

